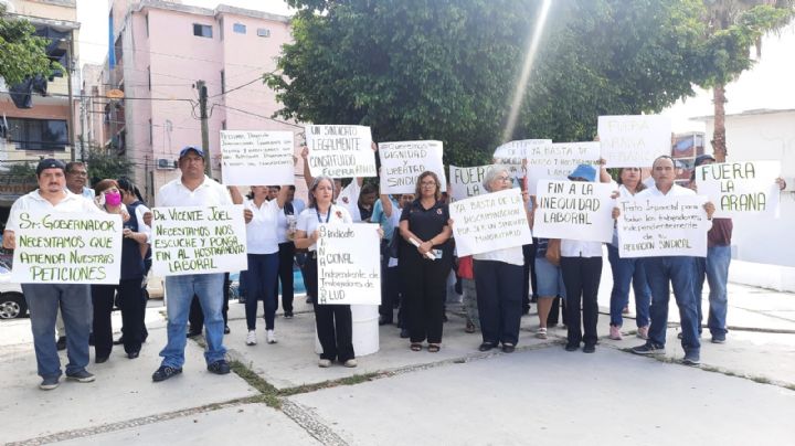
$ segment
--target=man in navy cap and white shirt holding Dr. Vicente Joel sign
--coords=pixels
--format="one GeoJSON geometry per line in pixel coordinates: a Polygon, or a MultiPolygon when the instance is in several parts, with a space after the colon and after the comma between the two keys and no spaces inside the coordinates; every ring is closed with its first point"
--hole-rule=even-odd
{"type": "MultiPolygon", "coordinates": [[[[204,151],[188,146],[180,151],[179,168],[182,176],[160,188],[156,205],[163,206],[221,206],[232,204],[232,198],[223,185],[204,174],[204,151]]],[[[151,222],[151,213],[144,217],[151,222]]],[[[160,351],[162,362],[152,374],[152,381],[159,382],[182,373],[184,363],[186,328],[193,295],[199,297],[204,312],[204,338],[206,351],[204,359],[208,370],[215,374],[226,374],[230,365],[225,360],[223,346],[224,320],[223,273],[189,274],[167,276],[166,301],[168,312],[168,343],[160,351]]]]}

